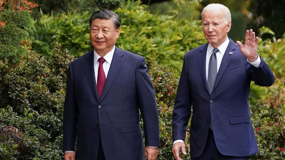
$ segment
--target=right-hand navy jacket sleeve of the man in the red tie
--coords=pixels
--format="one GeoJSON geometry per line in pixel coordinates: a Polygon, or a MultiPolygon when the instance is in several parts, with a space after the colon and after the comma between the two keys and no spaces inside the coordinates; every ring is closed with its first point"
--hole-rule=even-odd
{"type": "Polygon", "coordinates": [[[158,112],[154,87],[148,75],[144,58],[141,58],[137,65],[136,86],[139,108],[143,117],[145,146],[160,147],[158,112]]]}

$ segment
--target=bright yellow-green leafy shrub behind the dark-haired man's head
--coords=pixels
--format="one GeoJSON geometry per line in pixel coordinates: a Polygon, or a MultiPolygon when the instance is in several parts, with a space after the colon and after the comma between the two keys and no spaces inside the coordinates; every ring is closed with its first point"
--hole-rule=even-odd
{"type": "MultiPolygon", "coordinates": [[[[200,20],[177,19],[169,15],[153,15],[140,1],[128,1],[115,12],[121,16],[121,34],[116,45],[149,60],[155,57],[159,64],[180,70],[183,57],[190,49],[205,44],[200,20]]],[[[61,42],[76,57],[91,49],[89,17],[73,12],[69,17],[43,15],[34,21],[30,35],[35,37],[33,48],[48,55],[50,42],[61,42]]],[[[148,61],[149,62],[149,61],[148,61]]]]}

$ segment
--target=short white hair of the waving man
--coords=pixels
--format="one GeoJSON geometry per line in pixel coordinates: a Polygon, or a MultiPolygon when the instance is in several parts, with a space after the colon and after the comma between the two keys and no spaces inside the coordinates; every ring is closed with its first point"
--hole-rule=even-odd
{"type": "Polygon", "coordinates": [[[224,13],[224,19],[225,19],[225,23],[227,24],[229,21],[231,21],[231,12],[228,9],[228,7],[219,4],[219,3],[211,3],[209,5],[207,5],[206,7],[204,7],[202,13],[201,13],[201,17],[203,19],[203,14],[204,11],[216,11],[216,10],[222,10],[224,13]]]}

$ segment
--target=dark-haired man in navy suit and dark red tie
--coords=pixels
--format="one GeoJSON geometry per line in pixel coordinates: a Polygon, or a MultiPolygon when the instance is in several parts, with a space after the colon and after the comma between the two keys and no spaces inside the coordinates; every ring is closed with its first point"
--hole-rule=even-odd
{"type": "Polygon", "coordinates": [[[158,113],[145,59],[115,46],[121,19],[113,11],[94,12],[89,24],[94,50],[69,64],[64,159],[74,160],[76,151],[78,160],[154,160],[158,113]]]}

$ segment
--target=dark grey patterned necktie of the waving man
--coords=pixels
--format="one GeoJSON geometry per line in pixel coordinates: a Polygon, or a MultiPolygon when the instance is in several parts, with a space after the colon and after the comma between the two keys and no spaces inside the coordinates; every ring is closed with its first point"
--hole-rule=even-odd
{"type": "MultiPolygon", "coordinates": [[[[208,69],[208,87],[210,95],[212,94],[213,87],[217,77],[217,55],[216,53],[219,52],[218,48],[213,49],[213,53],[209,60],[209,69],[208,69]]],[[[212,126],[212,119],[209,120],[209,128],[213,130],[212,126]]]]}

